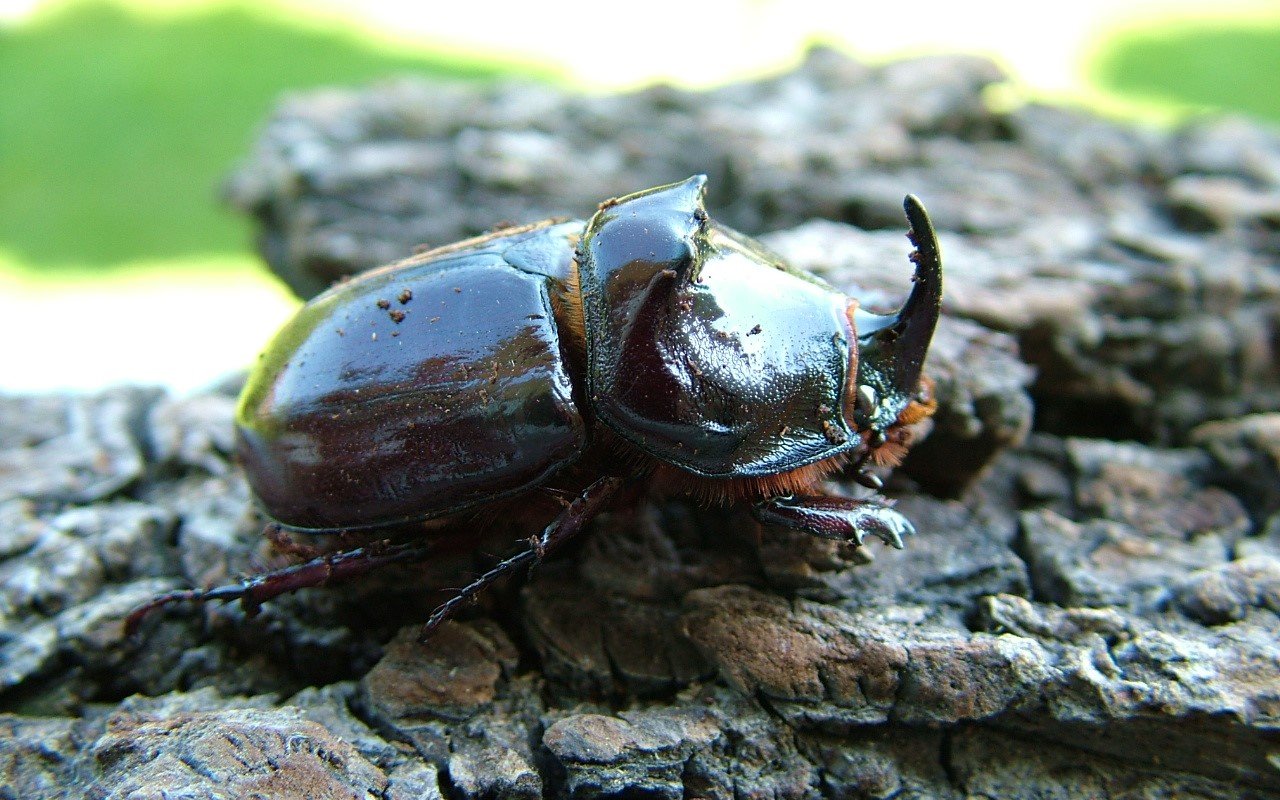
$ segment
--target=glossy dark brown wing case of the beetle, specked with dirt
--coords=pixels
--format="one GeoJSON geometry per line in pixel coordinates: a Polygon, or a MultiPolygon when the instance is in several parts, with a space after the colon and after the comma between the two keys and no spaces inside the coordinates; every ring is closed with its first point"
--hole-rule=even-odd
{"type": "Polygon", "coordinates": [[[266,512],[303,530],[388,525],[513,494],[573,461],[586,434],[549,293],[580,230],[426,253],[302,308],[237,412],[266,512]]]}

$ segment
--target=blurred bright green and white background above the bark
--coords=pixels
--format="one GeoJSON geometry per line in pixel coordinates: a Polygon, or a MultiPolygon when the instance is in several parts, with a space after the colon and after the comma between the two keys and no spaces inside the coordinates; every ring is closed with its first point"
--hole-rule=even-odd
{"type": "Polygon", "coordinates": [[[1280,124],[1275,0],[602,8],[0,0],[0,390],[189,392],[252,361],[297,301],[219,186],[291,91],[402,74],[707,87],[790,69],[826,42],[870,61],[987,55],[1015,79],[1001,102],[1280,124]]]}

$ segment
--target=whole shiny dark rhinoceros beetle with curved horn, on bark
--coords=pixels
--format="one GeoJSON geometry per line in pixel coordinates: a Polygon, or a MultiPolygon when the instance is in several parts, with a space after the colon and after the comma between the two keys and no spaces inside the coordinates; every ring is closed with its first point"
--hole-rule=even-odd
{"type": "MultiPolygon", "coordinates": [[[[760,522],[901,548],[911,524],[876,499],[823,494],[897,463],[933,413],[922,364],[942,264],[905,201],[914,285],[890,315],[708,218],[695,175],[605,201],[588,223],[508,228],[365,273],[308,302],[239,399],[238,456],[279,526],[338,532],[458,517],[553,489],[568,497],[527,548],[426,623],[581,532],[621,489],[745,503],[760,522]]],[[[425,527],[424,527],[425,530],[425,527]]],[[[282,593],[428,559],[424,532],[178,600],[282,593]]],[[[457,536],[458,534],[454,534],[457,536]]]]}

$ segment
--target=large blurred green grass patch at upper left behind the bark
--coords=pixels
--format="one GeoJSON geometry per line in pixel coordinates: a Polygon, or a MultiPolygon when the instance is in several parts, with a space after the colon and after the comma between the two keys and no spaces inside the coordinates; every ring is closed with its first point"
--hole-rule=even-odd
{"type": "Polygon", "coordinates": [[[216,191],[279,96],[410,73],[552,77],[244,6],[76,3],[0,26],[0,251],[42,273],[247,252],[216,191]]]}

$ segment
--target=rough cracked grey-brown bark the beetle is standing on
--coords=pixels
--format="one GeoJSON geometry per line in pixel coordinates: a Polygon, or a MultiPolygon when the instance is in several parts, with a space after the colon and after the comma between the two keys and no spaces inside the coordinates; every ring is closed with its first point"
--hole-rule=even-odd
{"type": "MultiPolygon", "coordinates": [[[[0,397],[0,797],[1280,797],[1280,140],[996,111],[991,64],[579,97],[287,101],[228,195],[294,287],[710,174],[713,214],[892,306],[920,196],[942,407],[905,552],[618,508],[428,645],[527,531],[268,603],[234,381],[0,397]],[[1034,410],[1034,415],[1033,415],[1034,410]]],[[[836,486],[849,489],[849,486],[836,486]]]]}

